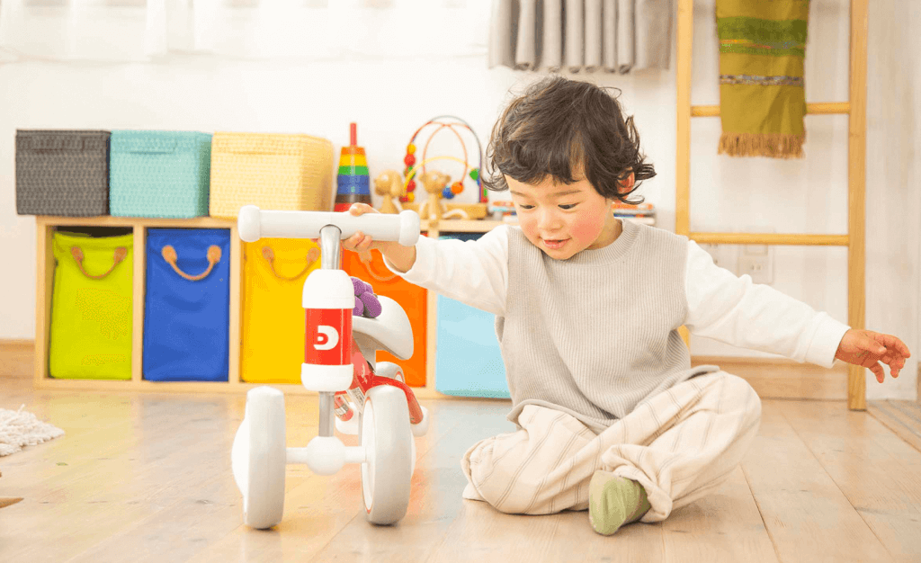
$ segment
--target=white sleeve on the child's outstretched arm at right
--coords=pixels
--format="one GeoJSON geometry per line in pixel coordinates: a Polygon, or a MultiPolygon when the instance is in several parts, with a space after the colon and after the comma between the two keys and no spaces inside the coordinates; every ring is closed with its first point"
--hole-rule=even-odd
{"type": "Polygon", "coordinates": [[[685,289],[685,325],[693,334],[798,362],[831,368],[850,328],[774,287],[752,283],[751,276],[733,275],[693,240],[688,244],[685,289]]]}

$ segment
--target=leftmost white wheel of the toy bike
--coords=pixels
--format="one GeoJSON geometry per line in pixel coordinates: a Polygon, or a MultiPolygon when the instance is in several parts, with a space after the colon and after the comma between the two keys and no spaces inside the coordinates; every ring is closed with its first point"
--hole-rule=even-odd
{"type": "Polygon", "coordinates": [[[234,479],[243,495],[243,522],[264,530],[285,512],[285,395],[272,387],[246,393],[246,415],[231,452],[234,479]]]}

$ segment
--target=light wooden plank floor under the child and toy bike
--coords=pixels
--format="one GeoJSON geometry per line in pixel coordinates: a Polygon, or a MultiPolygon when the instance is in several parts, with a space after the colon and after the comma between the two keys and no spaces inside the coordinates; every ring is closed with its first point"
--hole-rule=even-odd
{"type": "MultiPolygon", "coordinates": [[[[330,477],[290,466],[285,519],[259,532],[241,525],[230,471],[244,397],[0,386],[0,407],[25,404],[66,431],[0,458],[0,497],[24,498],[0,509],[4,563],[921,561],[921,452],[893,432],[896,416],[844,402],[764,401],[752,450],[717,494],[612,537],[592,532],[586,512],[509,516],[462,500],[461,455],[512,428],[508,404],[427,402],[432,426],[416,442],[399,525],[365,521],[356,466],[330,477]]],[[[916,405],[895,406],[909,428],[916,405]]],[[[286,413],[288,445],[305,445],[315,398],[287,397],[286,413]]]]}

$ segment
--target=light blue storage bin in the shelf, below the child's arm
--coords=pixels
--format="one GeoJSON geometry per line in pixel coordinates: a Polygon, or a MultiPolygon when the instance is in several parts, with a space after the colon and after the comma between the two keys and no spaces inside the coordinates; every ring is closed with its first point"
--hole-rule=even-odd
{"type": "MultiPolygon", "coordinates": [[[[480,233],[440,239],[476,240],[480,233]]],[[[461,397],[507,399],[506,368],[495,336],[495,315],[438,296],[435,388],[461,397]]]]}

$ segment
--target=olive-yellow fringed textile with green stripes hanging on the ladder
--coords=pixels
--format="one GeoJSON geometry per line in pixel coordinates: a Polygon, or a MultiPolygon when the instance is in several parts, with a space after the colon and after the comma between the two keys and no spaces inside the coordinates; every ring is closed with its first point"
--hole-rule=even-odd
{"type": "Polygon", "coordinates": [[[719,154],[802,158],[809,0],[717,0],[719,154]]]}

